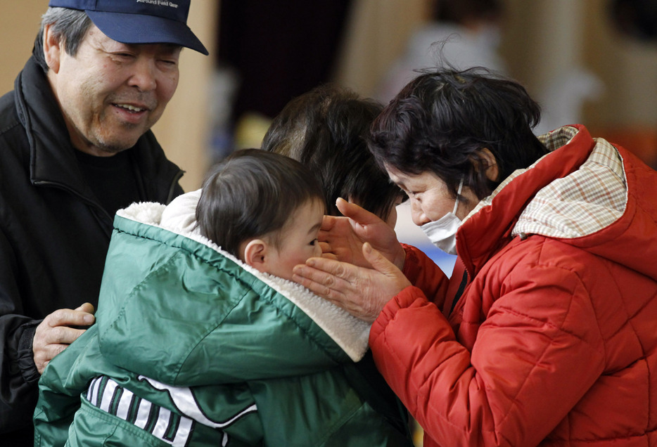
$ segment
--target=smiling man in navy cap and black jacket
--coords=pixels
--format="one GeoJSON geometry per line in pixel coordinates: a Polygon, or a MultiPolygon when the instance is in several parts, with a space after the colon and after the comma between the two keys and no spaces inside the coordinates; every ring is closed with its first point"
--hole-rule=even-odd
{"type": "Polygon", "coordinates": [[[94,321],[117,209],[170,202],[183,171],[151,127],[179,53],[208,54],[189,0],[51,0],[0,98],[0,439],[32,446],[37,381],[94,321]],[[84,304],[83,304],[84,303],[84,304]]]}

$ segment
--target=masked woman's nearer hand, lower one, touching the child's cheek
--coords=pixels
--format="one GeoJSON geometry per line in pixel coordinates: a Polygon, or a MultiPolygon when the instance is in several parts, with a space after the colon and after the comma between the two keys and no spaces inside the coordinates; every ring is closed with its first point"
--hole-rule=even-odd
{"type": "Polygon", "coordinates": [[[305,265],[295,266],[292,279],[353,316],[372,322],[383,306],[411,283],[395,264],[367,242],[362,247],[362,256],[374,268],[324,257],[310,258],[305,265]]]}

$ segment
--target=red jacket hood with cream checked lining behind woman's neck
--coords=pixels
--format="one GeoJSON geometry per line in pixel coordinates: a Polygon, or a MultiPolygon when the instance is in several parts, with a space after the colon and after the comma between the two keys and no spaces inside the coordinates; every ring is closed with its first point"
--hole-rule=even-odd
{"type": "Polygon", "coordinates": [[[551,152],[511,174],[464,219],[457,240],[471,272],[510,238],[544,235],[657,278],[654,171],[580,125],[540,139],[551,152]]]}

